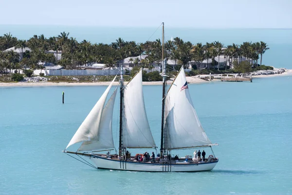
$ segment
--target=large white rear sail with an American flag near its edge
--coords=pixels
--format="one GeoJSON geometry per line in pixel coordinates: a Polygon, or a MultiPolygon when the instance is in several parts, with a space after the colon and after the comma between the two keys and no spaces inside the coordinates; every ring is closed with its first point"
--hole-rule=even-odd
{"type": "Polygon", "coordinates": [[[165,110],[166,149],[212,144],[193,106],[183,68],[166,94],[165,110]]]}

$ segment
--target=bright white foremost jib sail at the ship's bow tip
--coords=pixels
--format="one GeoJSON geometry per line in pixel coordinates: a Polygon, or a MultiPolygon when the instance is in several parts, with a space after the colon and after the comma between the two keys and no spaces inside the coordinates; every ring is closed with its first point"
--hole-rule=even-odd
{"type": "MultiPolygon", "coordinates": [[[[66,149],[78,142],[88,142],[92,140],[96,140],[98,138],[99,126],[101,122],[102,112],[105,106],[105,102],[107,100],[110,88],[115,80],[116,76],[110,83],[109,87],[105,90],[102,96],[99,98],[95,106],[91,109],[88,116],[85,118],[83,123],[80,125],[73,138],[67,145],[66,149]]],[[[94,148],[98,149],[98,148],[94,148]]]]}

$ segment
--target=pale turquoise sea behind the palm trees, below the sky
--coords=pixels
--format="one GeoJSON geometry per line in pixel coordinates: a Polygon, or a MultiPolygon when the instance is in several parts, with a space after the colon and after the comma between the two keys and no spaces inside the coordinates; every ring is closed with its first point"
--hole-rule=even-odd
{"type": "MultiPolygon", "coordinates": [[[[94,26],[57,26],[57,25],[0,25],[0,35],[11,33],[19,39],[29,39],[33,35],[57,36],[60,32],[69,32],[78,41],[84,39],[91,43],[115,42],[118,37],[125,41],[146,42],[162,39],[161,28],[125,28],[125,27],[94,27],[94,26]]],[[[264,41],[270,50],[263,55],[263,64],[277,68],[292,69],[290,55],[292,53],[292,29],[194,29],[168,28],[165,24],[165,39],[181,37],[193,44],[220,41],[225,46],[245,41],[264,41]]]]}

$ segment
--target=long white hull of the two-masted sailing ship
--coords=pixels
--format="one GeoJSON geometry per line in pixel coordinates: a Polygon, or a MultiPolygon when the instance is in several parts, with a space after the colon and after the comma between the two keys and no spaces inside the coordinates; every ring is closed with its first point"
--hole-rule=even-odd
{"type": "Polygon", "coordinates": [[[217,162],[185,163],[185,164],[162,164],[151,162],[132,162],[108,159],[106,157],[93,156],[91,160],[96,167],[102,169],[125,170],[125,171],[148,171],[148,172],[191,172],[210,171],[217,162]]]}

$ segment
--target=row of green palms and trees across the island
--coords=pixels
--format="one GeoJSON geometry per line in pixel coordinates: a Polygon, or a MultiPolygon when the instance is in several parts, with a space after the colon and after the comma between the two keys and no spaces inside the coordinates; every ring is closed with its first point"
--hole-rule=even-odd
{"type": "MultiPolygon", "coordinates": [[[[152,68],[153,63],[159,63],[162,60],[162,42],[160,39],[155,41],[146,41],[145,43],[136,43],[135,41],[124,41],[122,38],[116,39],[110,44],[94,43],[88,40],[78,42],[76,38],[69,37],[70,33],[62,32],[58,36],[46,38],[44,35],[34,35],[28,40],[21,40],[10,33],[0,36],[0,71],[13,69],[43,69],[44,63],[55,63],[63,66],[65,69],[79,69],[80,66],[91,62],[106,64],[107,67],[113,67],[117,62],[131,56],[140,56],[140,59],[130,58],[130,63],[152,68]],[[23,56],[20,59],[18,53],[14,51],[4,52],[11,47],[20,48],[23,56]],[[29,47],[31,52],[23,52],[25,47],[29,47]],[[53,50],[58,54],[62,52],[62,58],[55,58],[53,50]],[[147,54],[146,59],[142,55],[147,54]],[[39,63],[42,62],[42,63],[39,63]]],[[[224,47],[219,41],[212,43],[193,44],[190,41],[176,37],[173,40],[167,40],[164,43],[165,57],[175,61],[175,64],[188,65],[190,61],[201,64],[203,60],[214,62],[215,57],[226,55],[226,60],[231,61],[237,56],[244,56],[250,61],[251,66],[262,63],[262,55],[268,50],[268,45],[263,42],[243,42],[241,45],[232,44],[224,47]]],[[[58,55],[56,55],[58,56],[58,55]]],[[[210,63],[207,68],[214,67],[210,63]]],[[[188,68],[188,66],[186,66],[188,68]]],[[[225,67],[225,69],[227,66],[225,67]]],[[[219,69],[219,66],[218,66],[219,69]]]]}

